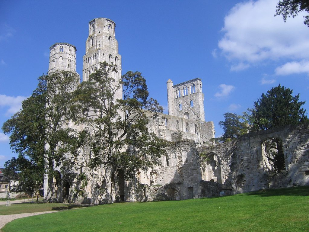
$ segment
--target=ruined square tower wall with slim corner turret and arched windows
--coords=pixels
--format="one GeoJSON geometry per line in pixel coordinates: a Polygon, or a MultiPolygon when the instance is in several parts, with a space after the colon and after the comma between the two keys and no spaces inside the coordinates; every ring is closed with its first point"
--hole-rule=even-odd
{"type": "Polygon", "coordinates": [[[195,78],[176,85],[168,79],[167,104],[169,115],[205,121],[201,79],[195,78]]]}

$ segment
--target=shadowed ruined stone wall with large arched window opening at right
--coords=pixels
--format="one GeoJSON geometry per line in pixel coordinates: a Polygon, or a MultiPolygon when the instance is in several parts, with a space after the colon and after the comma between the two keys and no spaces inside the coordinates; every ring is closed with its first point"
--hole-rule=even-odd
{"type": "Polygon", "coordinates": [[[309,125],[250,133],[235,144],[220,144],[203,152],[214,153],[221,159],[224,184],[232,187],[234,193],[309,185],[309,125]],[[263,141],[272,138],[282,141],[285,168],[279,173],[269,170],[262,146],[263,141]]]}

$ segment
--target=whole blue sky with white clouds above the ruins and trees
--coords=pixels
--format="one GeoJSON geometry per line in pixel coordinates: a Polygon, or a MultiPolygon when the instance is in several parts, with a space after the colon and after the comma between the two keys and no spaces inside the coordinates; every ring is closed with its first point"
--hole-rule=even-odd
{"type": "MultiPolygon", "coordinates": [[[[0,125],[48,71],[54,43],[76,46],[82,74],[88,23],[99,17],[116,23],[122,73],[142,72],[166,110],[167,79],[202,79],[205,120],[214,122],[216,137],[224,113],[241,114],[278,84],[306,101],[309,28],[303,15],[286,23],[274,17],[277,2],[0,1],[0,125]]],[[[0,167],[12,156],[0,130],[0,167]]]]}

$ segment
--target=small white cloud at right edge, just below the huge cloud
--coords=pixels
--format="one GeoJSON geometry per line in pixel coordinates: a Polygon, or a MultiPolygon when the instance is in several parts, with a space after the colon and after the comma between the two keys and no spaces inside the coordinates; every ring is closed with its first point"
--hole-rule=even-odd
{"type": "Polygon", "coordinates": [[[309,74],[309,61],[302,60],[300,62],[288,62],[280,67],[277,67],[275,73],[277,75],[290,75],[299,73],[309,74]]]}

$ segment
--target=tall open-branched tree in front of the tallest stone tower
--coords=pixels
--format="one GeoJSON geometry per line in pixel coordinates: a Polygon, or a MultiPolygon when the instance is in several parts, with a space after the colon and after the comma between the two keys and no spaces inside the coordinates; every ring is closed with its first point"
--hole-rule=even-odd
{"type": "Polygon", "coordinates": [[[100,63],[77,91],[81,108],[87,107],[80,121],[87,125],[90,148],[84,166],[110,167],[112,182],[119,184],[120,175],[130,178],[141,168],[159,164],[165,143],[147,128],[146,113],[163,108],[148,97],[145,78],[129,71],[118,80],[116,73],[116,65],[100,63]]]}

